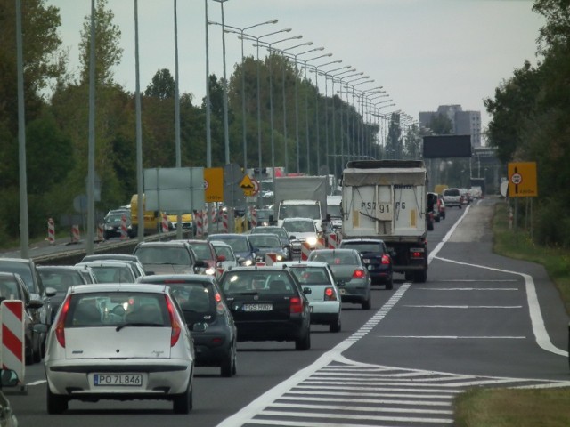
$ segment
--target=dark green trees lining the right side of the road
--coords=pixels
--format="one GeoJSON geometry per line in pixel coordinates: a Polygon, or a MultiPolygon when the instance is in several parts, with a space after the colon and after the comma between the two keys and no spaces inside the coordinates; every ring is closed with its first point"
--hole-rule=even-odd
{"type": "Polygon", "coordinates": [[[536,66],[525,61],[485,100],[492,115],[487,137],[504,163],[536,162],[534,236],[570,247],[570,4],[535,0],[545,18],[536,66]]]}

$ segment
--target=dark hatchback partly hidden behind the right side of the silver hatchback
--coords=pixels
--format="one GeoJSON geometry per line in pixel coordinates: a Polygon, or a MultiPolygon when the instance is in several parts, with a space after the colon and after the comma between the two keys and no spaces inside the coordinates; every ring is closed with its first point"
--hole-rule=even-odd
{"type": "Polygon", "coordinates": [[[139,283],[167,285],[191,330],[197,367],[220,367],[222,376],[236,373],[237,331],[216,279],[207,275],[154,275],[139,283]]]}

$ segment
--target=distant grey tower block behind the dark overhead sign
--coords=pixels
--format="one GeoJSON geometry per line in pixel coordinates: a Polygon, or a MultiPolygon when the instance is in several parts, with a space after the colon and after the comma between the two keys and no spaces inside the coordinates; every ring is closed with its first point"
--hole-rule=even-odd
{"type": "Polygon", "coordinates": [[[429,127],[432,117],[437,117],[440,114],[451,120],[453,133],[471,135],[471,145],[474,148],[481,147],[480,111],[463,111],[460,105],[440,105],[437,111],[420,111],[419,125],[429,127]]]}

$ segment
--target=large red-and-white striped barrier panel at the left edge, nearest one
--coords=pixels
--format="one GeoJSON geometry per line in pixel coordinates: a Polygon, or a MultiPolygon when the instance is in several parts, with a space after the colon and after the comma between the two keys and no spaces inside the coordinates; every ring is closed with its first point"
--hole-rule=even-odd
{"type": "Polygon", "coordinates": [[[13,369],[24,383],[26,375],[26,352],[24,347],[24,302],[4,300],[0,303],[2,318],[2,367],[13,369]]]}

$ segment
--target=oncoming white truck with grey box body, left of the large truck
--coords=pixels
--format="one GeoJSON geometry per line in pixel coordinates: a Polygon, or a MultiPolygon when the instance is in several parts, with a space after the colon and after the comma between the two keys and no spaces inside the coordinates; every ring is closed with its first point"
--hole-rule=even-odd
{"type": "Polygon", "coordinates": [[[281,227],[285,218],[311,218],[317,230],[328,221],[329,177],[286,176],[274,181],[274,213],[281,227]]]}

